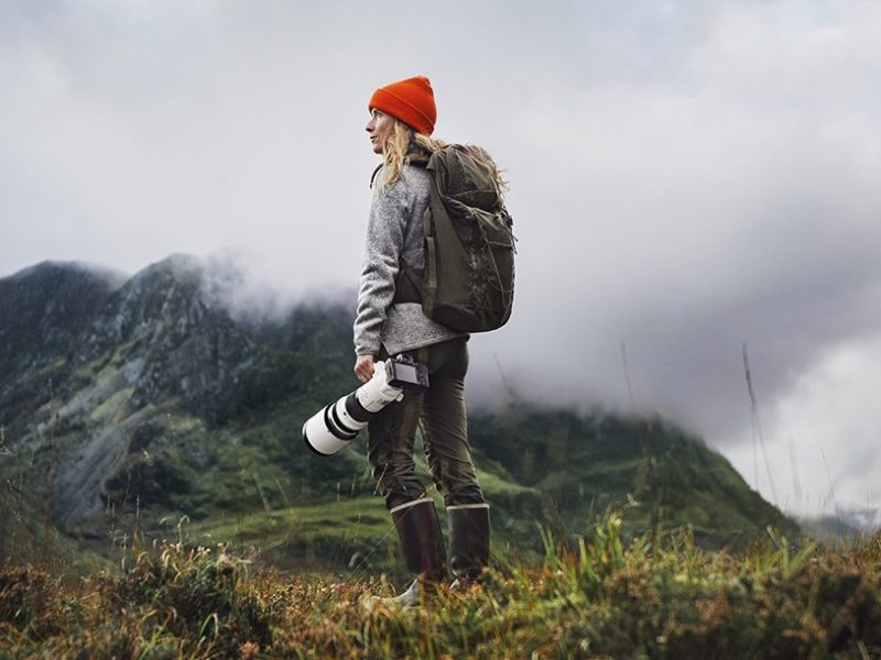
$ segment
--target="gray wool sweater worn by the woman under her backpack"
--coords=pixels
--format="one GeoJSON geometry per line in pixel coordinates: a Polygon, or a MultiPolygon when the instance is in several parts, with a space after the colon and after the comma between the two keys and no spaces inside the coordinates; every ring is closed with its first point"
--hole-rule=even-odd
{"type": "Polygon", "coordinates": [[[392,304],[400,262],[418,270],[425,265],[422,215],[428,206],[431,175],[424,167],[404,165],[393,186],[380,184],[383,169],[374,180],[354,326],[356,354],[378,355],[384,345],[395,355],[463,337],[426,317],[418,302],[392,304]]]}

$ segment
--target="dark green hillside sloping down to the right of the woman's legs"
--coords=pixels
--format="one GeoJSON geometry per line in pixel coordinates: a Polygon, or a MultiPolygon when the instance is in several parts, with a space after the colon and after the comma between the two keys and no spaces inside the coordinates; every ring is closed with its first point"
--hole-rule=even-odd
{"type": "Polygon", "coordinates": [[[564,530],[632,497],[634,530],[689,526],[706,547],[742,544],[768,525],[796,526],[703,440],[661,419],[577,415],[524,405],[478,416],[474,444],[518,483],[544,493],[564,530]]]}

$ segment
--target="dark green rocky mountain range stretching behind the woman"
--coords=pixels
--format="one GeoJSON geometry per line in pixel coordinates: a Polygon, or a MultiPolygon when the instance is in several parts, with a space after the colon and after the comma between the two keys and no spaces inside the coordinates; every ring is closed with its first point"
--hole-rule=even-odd
{"type": "MultiPolygon", "coordinates": [[[[128,278],[46,262],[0,279],[3,538],[21,510],[96,546],[188,519],[280,559],[320,548],[345,560],[388,536],[362,442],[322,459],[301,438],[304,419],[358,385],[351,305],[239,308],[242,283],[185,255],[128,278]],[[334,531],[352,520],[358,539],[334,531]]],[[[690,524],[720,546],[766,524],[795,530],[725,459],[660,420],[512,400],[470,424],[493,525],[514,547],[536,522],[584,534],[629,495],[634,532],[690,524]]]]}

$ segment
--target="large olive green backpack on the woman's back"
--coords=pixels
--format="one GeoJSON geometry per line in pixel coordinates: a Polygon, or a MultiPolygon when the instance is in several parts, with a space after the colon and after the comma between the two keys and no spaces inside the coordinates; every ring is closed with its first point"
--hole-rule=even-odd
{"type": "Polygon", "coordinates": [[[492,175],[460,145],[434,152],[425,167],[425,270],[401,264],[395,300],[421,301],[425,316],[461,332],[501,328],[514,299],[515,239],[492,175]]]}

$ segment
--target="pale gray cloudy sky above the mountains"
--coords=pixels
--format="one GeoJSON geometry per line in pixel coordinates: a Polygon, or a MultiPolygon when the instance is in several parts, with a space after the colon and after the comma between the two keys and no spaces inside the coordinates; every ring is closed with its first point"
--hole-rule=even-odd
{"type": "Polygon", "coordinates": [[[182,252],[351,290],[367,99],[424,74],[511,182],[476,402],[659,410],[785,510],[877,512],[879,34],[846,0],[0,0],[0,276],[182,252]]]}

